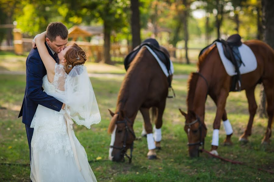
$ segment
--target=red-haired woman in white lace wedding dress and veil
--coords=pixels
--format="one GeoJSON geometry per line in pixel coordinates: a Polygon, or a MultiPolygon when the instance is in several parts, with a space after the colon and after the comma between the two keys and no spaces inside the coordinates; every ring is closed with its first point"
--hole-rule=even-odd
{"type": "Polygon", "coordinates": [[[77,140],[72,124],[90,128],[101,120],[97,101],[88,77],[86,52],[77,44],[58,53],[59,64],[45,46],[45,32],[35,38],[40,57],[47,69],[44,92],[65,103],[60,112],[38,105],[31,126],[31,171],[33,182],[97,181],[86,151],[77,140]]]}

